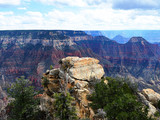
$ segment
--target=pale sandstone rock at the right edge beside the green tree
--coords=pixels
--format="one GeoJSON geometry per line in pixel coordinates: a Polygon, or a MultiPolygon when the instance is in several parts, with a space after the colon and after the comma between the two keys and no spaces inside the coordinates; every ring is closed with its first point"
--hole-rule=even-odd
{"type": "Polygon", "coordinates": [[[160,94],[156,93],[152,89],[143,89],[142,93],[153,105],[156,105],[160,100],[160,94]]]}

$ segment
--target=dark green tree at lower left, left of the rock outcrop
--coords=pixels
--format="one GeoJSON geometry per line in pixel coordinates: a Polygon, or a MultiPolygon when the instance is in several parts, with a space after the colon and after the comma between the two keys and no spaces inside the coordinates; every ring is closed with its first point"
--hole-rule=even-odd
{"type": "Polygon", "coordinates": [[[18,78],[8,88],[8,94],[14,98],[9,107],[9,120],[40,120],[43,111],[39,110],[40,100],[35,98],[38,94],[28,79],[18,78]],[[37,119],[38,118],[38,119],[37,119]]]}

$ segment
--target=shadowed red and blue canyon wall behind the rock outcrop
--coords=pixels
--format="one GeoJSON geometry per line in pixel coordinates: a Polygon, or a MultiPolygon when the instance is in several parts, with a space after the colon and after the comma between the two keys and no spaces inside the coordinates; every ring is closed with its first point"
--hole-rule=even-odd
{"type": "Polygon", "coordinates": [[[142,37],[119,44],[104,36],[83,31],[28,30],[0,31],[0,83],[7,87],[25,75],[40,87],[42,73],[66,56],[94,57],[106,75],[129,77],[139,88],[159,89],[160,47],[142,37]]]}

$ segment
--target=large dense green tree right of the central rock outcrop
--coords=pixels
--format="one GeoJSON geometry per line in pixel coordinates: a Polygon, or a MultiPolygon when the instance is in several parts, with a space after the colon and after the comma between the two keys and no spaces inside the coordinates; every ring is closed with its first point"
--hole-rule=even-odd
{"type": "Polygon", "coordinates": [[[108,120],[151,120],[147,117],[148,109],[138,101],[135,89],[125,80],[106,78],[95,85],[95,92],[90,96],[91,107],[104,109],[108,120]]]}

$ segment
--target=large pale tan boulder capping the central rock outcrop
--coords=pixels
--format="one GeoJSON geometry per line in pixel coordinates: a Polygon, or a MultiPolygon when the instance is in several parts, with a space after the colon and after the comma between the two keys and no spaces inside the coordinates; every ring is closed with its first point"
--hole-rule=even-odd
{"type": "Polygon", "coordinates": [[[66,68],[69,75],[75,79],[88,80],[101,79],[104,75],[103,67],[94,58],[67,57],[62,59],[62,68],[66,68]]]}

